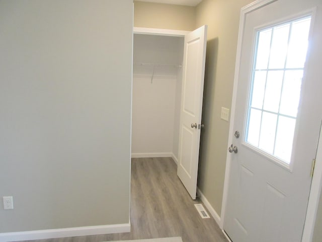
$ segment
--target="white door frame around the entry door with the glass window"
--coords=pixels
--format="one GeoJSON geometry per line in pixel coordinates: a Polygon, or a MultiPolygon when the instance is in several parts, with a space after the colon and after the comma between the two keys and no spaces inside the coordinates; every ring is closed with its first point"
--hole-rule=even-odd
{"type": "MultiPolygon", "coordinates": [[[[232,143],[232,138],[234,133],[233,131],[234,112],[236,108],[238,73],[240,68],[241,46],[243,44],[243,34],[245,30],[246,15],[276,1],[278,0],[257,0],[241,8],[240,10],[235,72],[234,72],[233,91],[232,91],[232,99],[231,99],[229,136],[228,136],[227,147],[229,147],[229,145],[232,143]]],[[[220,223],[219,223],[219,227],[222,229],[224,234],[225,232],[223,230],[223,224],[224,224],[225,213],[226,213],[228,188],[229,188],[229,176],[230,176],[230,168],[231,168],[230,155],[231,153],[227,152],[225,179],[224,179],[223,196],[222,196],[222,208],[221,208],[220,223]]],[[[322,130],[320,131],[320,139],[317,147],[316,163],[314,168],[314,174],[312,177],[311,189],[309,193],[309,201],[308,201],[308,206],[306,210],[306,217],[305,217],[304,229],[302,234],[302,242],[309,242],[312,240],[321,189],[322,189],[322,130]]]]}

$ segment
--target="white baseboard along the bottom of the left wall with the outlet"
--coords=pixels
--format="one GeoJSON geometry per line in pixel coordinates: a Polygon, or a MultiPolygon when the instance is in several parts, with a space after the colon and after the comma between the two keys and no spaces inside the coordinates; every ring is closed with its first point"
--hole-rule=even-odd
{"type": "Polygon", "coordinates": [[[0,242],[130,232],[130,223],[0,233],[0,242]]]}

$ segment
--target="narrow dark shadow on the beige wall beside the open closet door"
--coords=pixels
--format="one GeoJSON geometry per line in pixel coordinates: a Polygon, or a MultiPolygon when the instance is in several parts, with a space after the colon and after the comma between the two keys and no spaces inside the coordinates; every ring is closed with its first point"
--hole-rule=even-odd
{"type": "Polygon", "coordinates": [[[218,56],[218,38],[207,41],[205,80],[203,89],[203,105],[201,123],[205,128],[201,130],[200,149],[199,149],[199,168],[198,168],[198,187],[203,187],[202,174],[206,169],[206,163],[209,161],[209,149],[212,149],[211,130],[214,129],[214,94],[216,83],[217,56],[218,56]]]}

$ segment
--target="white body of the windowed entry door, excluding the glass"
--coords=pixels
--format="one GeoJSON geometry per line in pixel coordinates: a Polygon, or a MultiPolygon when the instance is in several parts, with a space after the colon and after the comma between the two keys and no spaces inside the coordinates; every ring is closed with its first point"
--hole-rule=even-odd
{"type": "Polygon", "coordinates": [[[319,95],[322,84],[318,80],[322,75],[318,67],[322,61],[319,47],[322,42],[322,3],[318,0],[258,2],[264,4],[260,9],[254,7],[248,12],[245,22],[241,23],[244,29],[239,30],[239,44],[243,44],[240,55],[237,53],[240,58],[236,61],[234,118],[229,131],[229,145],[237,146],[238,153],[227,155],[225,186],[229,188],[223,200],[223,228],[233,242],[301,241],[311,183],[311,160],[315,157],[322,117],[319,95]],[[307,15],[312,15],[310,42],[291,165],[284,166],[244,141],[255,33],[258,29],[307,15]],[[233,137],[236,130],[240,132],[238,139],[233,137]]]}

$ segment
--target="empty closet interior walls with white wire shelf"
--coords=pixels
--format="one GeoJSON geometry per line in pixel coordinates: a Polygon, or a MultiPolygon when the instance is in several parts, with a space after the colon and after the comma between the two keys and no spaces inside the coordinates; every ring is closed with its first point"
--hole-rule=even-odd
{"type": "Polygon", "coordinates": [[[178,157],[184,37],[134,34],[132,157],[178,157]]]}

